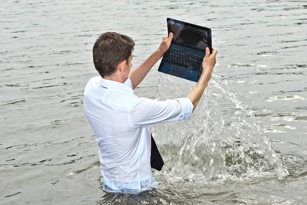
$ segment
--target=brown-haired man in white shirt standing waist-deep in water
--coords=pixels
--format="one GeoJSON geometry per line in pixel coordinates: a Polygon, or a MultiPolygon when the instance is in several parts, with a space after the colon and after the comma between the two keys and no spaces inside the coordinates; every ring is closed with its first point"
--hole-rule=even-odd
{"type": "Polygon", "coordinates": [[[157,101],[134,95],[133,89],[169,49],[172,38],[172,33],[164,36],[158,50],[131,72],[135,43],[130,37],[106,32],[94,44],[100,76],[86,84],[84,112],[96,134],[107,192],[141,192],[156,185],[150,168],[150,125],[187,120],[211,78],[217,50],[209,55],[206,48],[203,74],[186,98],[157,101]]]}

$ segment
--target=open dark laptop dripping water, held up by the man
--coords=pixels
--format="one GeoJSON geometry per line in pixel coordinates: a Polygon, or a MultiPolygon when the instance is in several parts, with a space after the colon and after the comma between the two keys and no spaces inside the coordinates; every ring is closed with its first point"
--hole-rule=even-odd
{"type": "Polygon", "coordinates": [[[211,29],[167,18],[167,30],[174,37],[158,71],[198,82],[203,72],[206,47],[212,53],[211,29]]]}

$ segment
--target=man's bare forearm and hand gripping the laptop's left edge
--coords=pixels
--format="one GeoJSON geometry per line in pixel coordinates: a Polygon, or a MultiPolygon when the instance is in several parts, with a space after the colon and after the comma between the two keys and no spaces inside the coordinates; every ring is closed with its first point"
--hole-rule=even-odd
{"type": "Polygon", "coordinates": [[[155,65],[163,54],[169,49],[173,34],[169,33],[169,36],[163,36],[162,42],[159,49],[151,54],[142,64],[136,67],[133,71],[129,73],[129,78],[131,80],[133,89],[136,88],[145,76],[150,71],[151,67],[155,65]]]}

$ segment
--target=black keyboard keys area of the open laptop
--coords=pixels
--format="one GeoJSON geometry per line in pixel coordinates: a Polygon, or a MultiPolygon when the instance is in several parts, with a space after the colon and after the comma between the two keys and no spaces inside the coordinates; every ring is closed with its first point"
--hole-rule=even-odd
{"type": "Polygon", "coordinates": [[[178,49],[169,49],[164,53],[163,61],[201,71],[203,57],[178,49]]]}

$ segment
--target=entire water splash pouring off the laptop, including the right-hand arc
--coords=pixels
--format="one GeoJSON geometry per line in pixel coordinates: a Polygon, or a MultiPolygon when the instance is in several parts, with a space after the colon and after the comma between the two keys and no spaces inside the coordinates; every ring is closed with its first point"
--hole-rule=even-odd
{"type": "MultiPolygon", "coordinates": [[[[153,126],[153,136],[166,157],[163,170],[192,180],[200,177],[212,179],[225,174],[250,176],[271,172],[271,169],[280,179],[288,176],[288,170],[283,167],[252,110],[229,91],[226,80],[223,82],[226,88],[221,82],[221,76],[213,75],[189,120],[153,126]],[[225,101],[225,98],[235,106],[236,113],[247,114],[251,120],[238,117],[240,122],[232,124],[236,130],[234,135],[224,128],[225,121],[216,102],[218,99],[225,101]],[[261,147],[261,142],[255,141],[256,135],[261,136],[266,146],[261,147]]],[[[160,75],[157,98],[185,97],[194,86],[194,82],[160,75]]]]}

